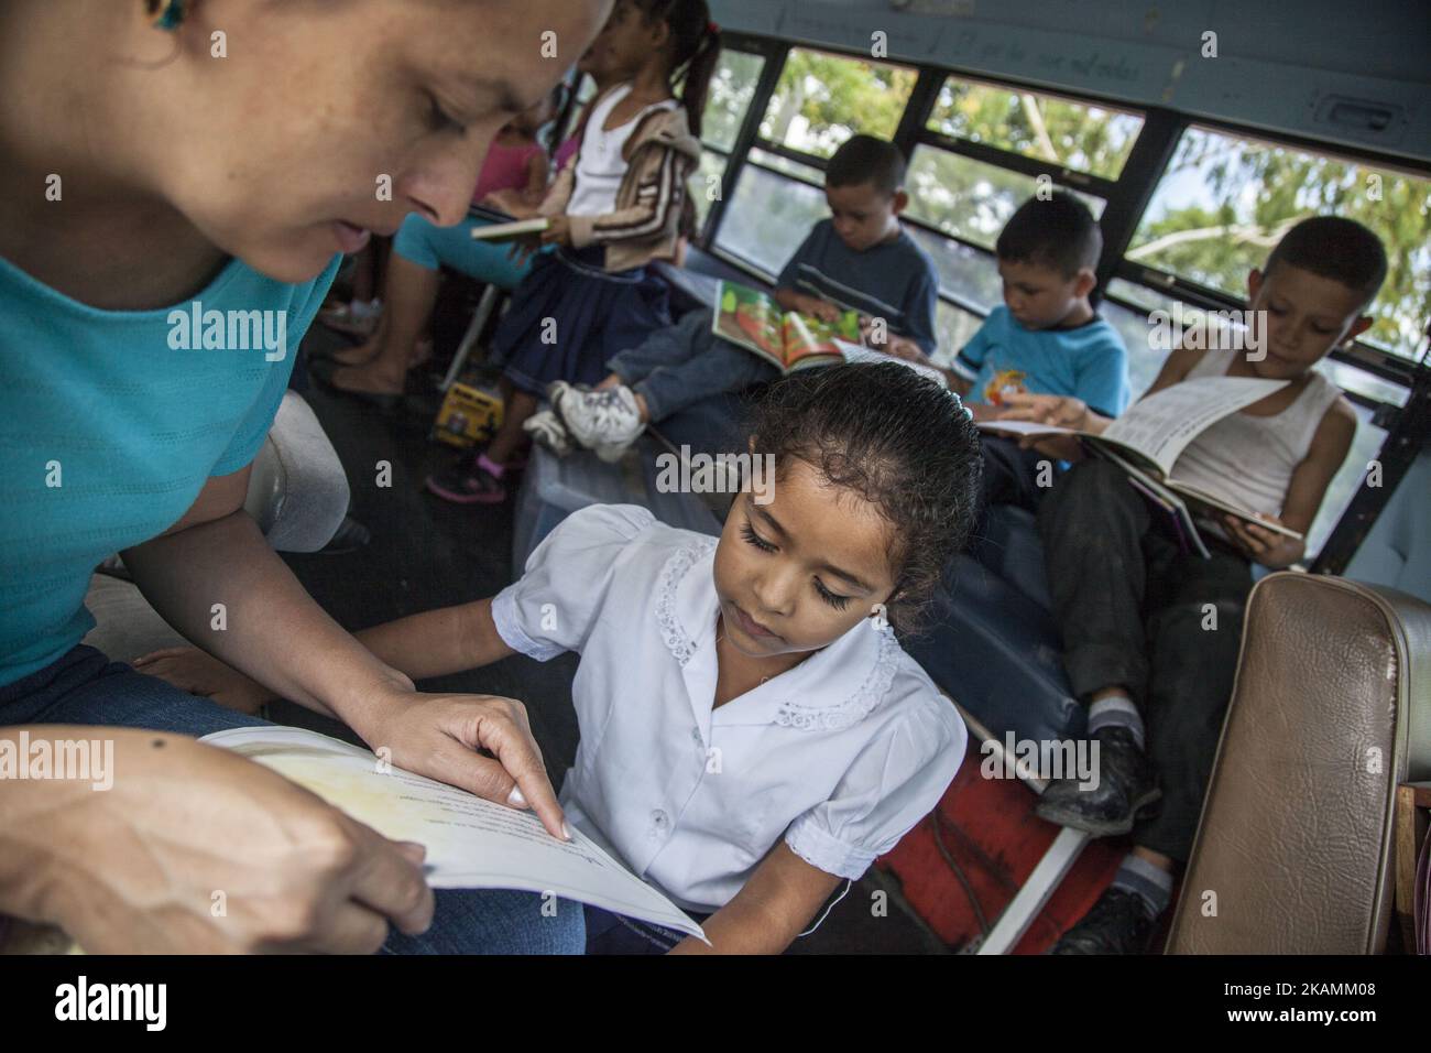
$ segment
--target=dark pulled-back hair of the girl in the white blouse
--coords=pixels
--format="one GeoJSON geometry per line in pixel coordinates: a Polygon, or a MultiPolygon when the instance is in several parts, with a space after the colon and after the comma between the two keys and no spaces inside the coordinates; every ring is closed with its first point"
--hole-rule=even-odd
{"type": "Polygon", "coordinates": [[[983,457],[959,397],[900,362],[831,365],[773,384],[750,434],[777,479],[803,460],[879,509],[893,526],[889,619],[919,629],[979,514],[983,457]]]}

